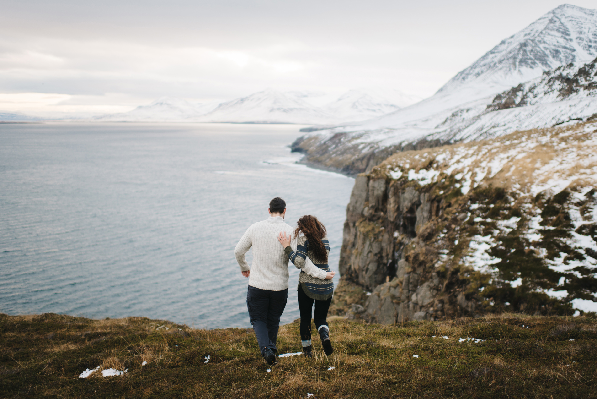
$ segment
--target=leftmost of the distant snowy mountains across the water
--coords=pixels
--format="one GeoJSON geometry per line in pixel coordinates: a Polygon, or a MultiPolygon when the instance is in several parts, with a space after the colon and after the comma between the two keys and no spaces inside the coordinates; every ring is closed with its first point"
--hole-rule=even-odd
{"type": "Polygon", "coordinates": [[[103,115],[96,119],[125,122],[184,121],[210,112],[218,105],[219,102],[191,103],[183,99],[161,97],[149,105],[139,106],[133,111],[103,115]]]}

